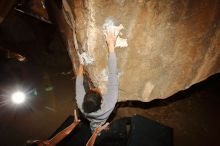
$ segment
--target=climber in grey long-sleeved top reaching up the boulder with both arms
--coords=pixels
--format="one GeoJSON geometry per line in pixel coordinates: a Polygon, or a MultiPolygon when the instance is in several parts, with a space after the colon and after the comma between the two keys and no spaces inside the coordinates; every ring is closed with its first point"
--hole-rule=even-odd
{"type": "Polygon", "coordinates": [[[76,102],[84,117],[90,121],[92,132],[99,125],[106,122],[113,111],[118,100],[118,77],[117,61],[115,54],[115,43],[122,27],[107,29],[105,39],[108,45],[108,83],[107,92],[101,94],[98,88],[92,88],[87,93],[83,86],[83,60],[80,58],[80,65],[76,78],[76,102]]]}

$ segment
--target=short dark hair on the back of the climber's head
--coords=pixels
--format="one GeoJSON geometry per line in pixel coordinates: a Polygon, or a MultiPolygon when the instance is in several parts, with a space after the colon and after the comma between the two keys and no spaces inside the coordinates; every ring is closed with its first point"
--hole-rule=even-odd
{"type": "Polygon", "coordinates": [[[96,112],[101,108],[102,96],[99,92],[89,90],[84,96],[82,108],[85,113],[96,112]]]}

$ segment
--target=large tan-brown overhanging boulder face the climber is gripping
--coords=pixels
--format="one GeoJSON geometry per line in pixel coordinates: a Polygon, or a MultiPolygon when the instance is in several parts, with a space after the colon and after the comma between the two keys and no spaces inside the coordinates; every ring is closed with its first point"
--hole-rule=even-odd
{"type": "MultiPolygon", "coordinates": [[[[122,38],[128,40],[128,47],[116,49],[119,101],[167,98],[220,72],[218,0],[69,0],[68,3],[72,10],[68,15],[74,16],[71,25],[76,32],[76,49],[95,59],[86,70],[103,92],[108,53],[102,27],[108,18],[124,26],[122,38]]],[[[75,48],[69,51],[73,52],[72,49],[75,48]]]]}

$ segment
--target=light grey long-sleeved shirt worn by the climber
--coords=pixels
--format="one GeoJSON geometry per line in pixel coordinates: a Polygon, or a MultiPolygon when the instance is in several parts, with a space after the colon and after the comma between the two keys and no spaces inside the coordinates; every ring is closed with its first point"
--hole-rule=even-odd
{"type": "Polygon", "coordinates": [[[85,113],[82,109],[82,103],[86,94],[83,86],[83,76],[77,76],[76,78],[76,102],[85,118],[90,121],[92,131],[100,124],[106,122],[118,100],[117,59],[115,53],[109,53],[108,71],[107,92],[102,95],[103,101],[101,109],[92,113],[85,113]]]}

